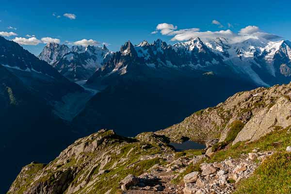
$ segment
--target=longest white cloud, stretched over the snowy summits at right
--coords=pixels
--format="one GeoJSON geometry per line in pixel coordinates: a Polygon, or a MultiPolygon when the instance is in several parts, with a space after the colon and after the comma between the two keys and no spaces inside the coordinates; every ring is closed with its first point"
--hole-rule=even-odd
{"type": "MultiPolygon", "coordinates": [[[[165,23],[164,23],[165,24],[165,23]]],[[[213,39],[218,37],[224,37],[228,39],[230,43],[236,43],[241,42],[244,40],[247,40],[249,38],[265,38],[267,40],[274,40],[277,38],[280,38],[280,36],[263,32],[259,29],[257,26],[247,26],[245,28],[242,28],[238,33],[232,32],[231,30],[222,30],[222,31],[206,31],[201,32],[199,28],[191,28],[191,29],[181,29],[177,30],[177,26],[174,26],[173,24],[167,24],[167,25],[158,25],[157,26],[157,32],[160,32],[163,35],[173,36],[171,39],[172,41],[185,41],[189,40],[190,38],[196,38],[199,37],[201,39],[213,39]],[[161,28],[163,26],[163,28],[161,28]],[[168,28],[166,28],[168,27],[168,28]],[[171,32],[162,32],[162,30],[172,30],[171,32]]],[[[156,31],[155,31],[156,32],[156,31]]]]}

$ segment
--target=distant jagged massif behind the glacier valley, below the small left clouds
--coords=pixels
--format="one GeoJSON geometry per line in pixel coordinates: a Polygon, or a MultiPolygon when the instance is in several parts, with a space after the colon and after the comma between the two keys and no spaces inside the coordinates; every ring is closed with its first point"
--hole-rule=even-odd
{"type": "Polygon", "coordinates": [[[45,46],[38,58],[48,62],[62,75],[71,81],[87,80],[101,67],[105,61],[112,56],[105,45],[95,46],[73,46],[49,43],[45,46]]]}

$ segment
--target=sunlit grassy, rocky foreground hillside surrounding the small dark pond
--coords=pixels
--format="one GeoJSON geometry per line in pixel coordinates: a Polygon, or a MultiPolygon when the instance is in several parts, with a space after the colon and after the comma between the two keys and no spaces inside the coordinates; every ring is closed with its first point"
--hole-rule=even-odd
{"type": "Polygon", "coordinates": [[[24,166],[8,194],[290,194],[290,117],[291,83],[237,93],[157,132],[101,129],[24,166]],[[170,145],[187,140],[206,149],[170,145]]]}

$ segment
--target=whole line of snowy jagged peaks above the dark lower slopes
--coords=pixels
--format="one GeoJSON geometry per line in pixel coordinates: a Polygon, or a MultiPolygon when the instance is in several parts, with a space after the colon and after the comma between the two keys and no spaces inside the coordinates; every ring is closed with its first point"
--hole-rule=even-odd
{"type": "MultiPolygon", "coordinates": [[[[187,42],[179,42],[168,45],[158,39],[149,44],[147,41],[133,46],[130,42],[125,43],[117,52],[109,52],[106,48],[90,47],[91,55],[82,58],[77,53],[83,53],[84,48],[49,43],[40,53],[39,58],[47,61],[67,78],[72,79],[68,71],[74,71],[76,75],[83,71],[97,72],[91,76],[79,76],[80,79],[109,77],[112,74],[124,74],[130,71],[132,64],[143,65],[156,69],[164,68],[164,71],[191,71],[202,70],[213,73],[239,77],[245,81],[251,81],[256,85],[271,86],[276,83],[289,81],[291,76],[291,42],[269,41],[263,38],[248,39],[239,43],[229,43],[226,38],[206,39],[194,38],[187,42]],[[97,56],[95,50],[103,50],[97,56]],[[72,50],[75,54],[67,54],[72,50]],[[95,56],[91,60],[90,56],[95,56]],[[74,58],[74,60],[73,60],[74,58]],[[76,59],[77,58],[77,59],[76,59]],[[81,60],[82,58],[83,60],[81,60]],[[70,61],[73,60],[74,62],[70,61]],[[81,60],[79,65],[76,61],[81,60]],[[88,65],[91,61],[91,65],[88,65]],[[72,66],[72,64],[74,64],[72,66]],[[82,64],[80,66],[80,64],[82,64]],[[95,64],[95,65],[92,65],[95,64]],[[83,68],[77,68],[83,67],[83,68]],[[94,66],[94,68],[92,68],[94,66]],[[84,70],[85,69],[85,70],[84,70]]],[[[86,53],[86,51],[84,51],[86,53]]],[[[140,67],[144,68],[144,67],[140,67]]],[[[160,74],[161,72],[157,73],[160,74]]],[[[166,73],[165,73],[166,74],[166,73]]],[[[89,75],[89,74],[88,74],[89,75]]],[[[162,77],[163,75],[159,75],[162,77]]]]}

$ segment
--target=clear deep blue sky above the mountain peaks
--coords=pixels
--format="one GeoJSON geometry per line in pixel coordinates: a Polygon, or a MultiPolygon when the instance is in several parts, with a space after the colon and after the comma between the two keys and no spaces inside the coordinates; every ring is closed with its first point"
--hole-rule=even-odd
{"type": "Polygon", "coordinates": [[[82,39],[92,39],[94,44],[108,43],[108,48],[113,51],[119,50],[120,46],[128,40],[138,44],[144,39],[153,42],[161,38],[168,43],[174,43],[173,37],[183,29],[192,29],[191,32],[216,32],[229,29],[231,32],[238,33],[246,26],[256,26],[258,27],[256,32],[267,32],[284,39],[291,39],[291,2],[288,0],[225,0],[223,2],[218,0],[48,0],[40,2],[39,0],[13,2],[1,0],[0,2],[0,32],[17,34],[5,36],[7,39],[16,37],[28,39],[30,37],[26,35],[35,35],[34,40],[39,41],[33,43],[36,45],[22,45],[33,54],[38,54],[45,46],[41,43],[46,42],[41,40],[43,37],[59,39],[61,43],[69,41],[69,44],[82,39]],[[64,14],[73,14],[76,18],[70,19],[64,14]],[[162,34],[162,28],[156,29],[161,23],[172,24],[172,27],[167,26],[166,29],[175,32],[164,31],[162,34]],[[8,27],[16,29],[8,29],[8,27]],[[155,31],[157,32],[151,33],[155,31]]]}

